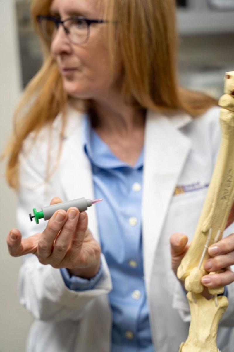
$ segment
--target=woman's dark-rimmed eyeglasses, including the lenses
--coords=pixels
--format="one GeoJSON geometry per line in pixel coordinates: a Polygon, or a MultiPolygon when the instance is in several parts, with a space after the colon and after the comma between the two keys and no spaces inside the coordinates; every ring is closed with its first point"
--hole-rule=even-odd
{"type": "Polygon", "coordinates": [[[38,15],[36,19],[41,34],[46,40],[52,41],[54,39],[61,24],[69,41],[74,44],[84,44],[87,42],[89,27],[92,23],[109,22],[106,20],[91,20],[81,16],[69,17],[62,21],[59,18],[49,15],[38,15]]]}

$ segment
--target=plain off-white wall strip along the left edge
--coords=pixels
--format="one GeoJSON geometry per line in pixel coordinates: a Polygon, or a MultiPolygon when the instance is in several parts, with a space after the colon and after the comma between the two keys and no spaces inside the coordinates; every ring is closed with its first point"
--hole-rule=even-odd
{"type": "MultiPolygon", "coordinates": [[[[12,114],[20,96],[18,38],[14,0],[0,0],[0,152],[12,128],[12,114]]],[[[3,171],[1,163],[1,175],[3,171]]],[[[9,255],[6,236],[16,226],[15,194],[0,177],[0,351],[24,352],[32,318],[19,304],[17,277],[20,258],[9,255]]]]}

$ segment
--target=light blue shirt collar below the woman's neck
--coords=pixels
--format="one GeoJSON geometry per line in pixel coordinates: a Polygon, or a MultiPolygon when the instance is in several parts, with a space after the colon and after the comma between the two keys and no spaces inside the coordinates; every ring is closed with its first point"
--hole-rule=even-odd
{"type": "Polygon", "coordinates": [[[103,142],[103,140],[92,128],[88,114],[84,115],[82,137],[82,145],[87,157],[93,165],[98,166],[99,168],[139,169],[143,166],[143,150],[141,151],[141,154],[133,167],[120,160],[117,156],[115,156],[111,149],[109,149],[108,145],[103,142]]]}

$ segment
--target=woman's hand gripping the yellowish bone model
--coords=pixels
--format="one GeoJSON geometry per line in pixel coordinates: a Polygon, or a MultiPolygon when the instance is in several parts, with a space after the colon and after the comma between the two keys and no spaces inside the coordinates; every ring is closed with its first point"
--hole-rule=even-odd
{"type": "MultiPolygon", "coordinates": [[[[226,228],[234,221],[234,205],[228,216],[226,228]]],[[[182,233],[174,233],[170,238],[172,270],[175,275],[182,258],[185,256],[189,244],[188,238],[182,233]]],[[[221,239],[208,248],[209,258],[204,263],[204,269],[208,272],[224,270],[220,274],[208,274],[202,277],[201,283],[207,288],[218,288],[234,282],[234,273],[230,265],[234,265],[234,234],[221,239]]],[[[180,280],[184,287],[184,281],[180,280]]],[[[203,291],[207,297],[208,290],[203,291]]]]}

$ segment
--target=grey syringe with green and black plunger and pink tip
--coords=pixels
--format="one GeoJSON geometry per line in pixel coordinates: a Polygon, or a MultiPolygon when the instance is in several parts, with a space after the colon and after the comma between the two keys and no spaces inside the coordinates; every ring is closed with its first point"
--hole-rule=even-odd
{"type": "Polygon", "coordinates": [[[56,212],[56,210],[63,209],[67,211],[69,208],[75,207],[78,208],[80,212],[83,212],[84,210],[87,210],[88,207],[91,207],[93,204],[96,204],[101,201],[102,199],[91,200],[85,198],[78,198],[69,200],[68,202],[48,205],[46,207],[41,208],[40,212],[37,212],[36,208],[33,208],[34,215],[29,214],[29,218],[31,221],[33,221],[33,218],[35,218],[36,224],[39,224],[39,219],[44,218],[44,220],[49,220],[51,216],[56,212]]]}

